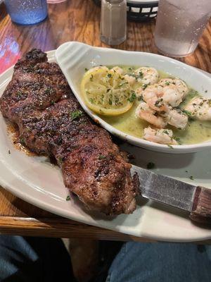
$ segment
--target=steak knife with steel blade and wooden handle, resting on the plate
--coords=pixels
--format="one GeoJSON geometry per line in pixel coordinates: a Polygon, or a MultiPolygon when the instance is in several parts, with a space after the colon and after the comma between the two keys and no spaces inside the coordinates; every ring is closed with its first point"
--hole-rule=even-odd
{"type": "Polygon", "coordinates": [[[211,224],[211,189],[153,173],[132,166],[132,176],[139,176],[142,197],[189,212],[190,219],[211,224]]]}

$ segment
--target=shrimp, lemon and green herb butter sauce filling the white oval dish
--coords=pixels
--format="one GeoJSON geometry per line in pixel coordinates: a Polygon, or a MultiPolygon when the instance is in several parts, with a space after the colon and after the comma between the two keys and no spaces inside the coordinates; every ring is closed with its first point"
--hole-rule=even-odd
{"type": "Polygon", "coordinates": [[[169,147],[210,140],[210,88],[201,81],[198,89],[208,98],[189,87],[183,73],[178,78],[151,66],[124,65],[99,66],[93,71],[94,81],[90,77],[87,82],[87,96],[94,93],[89,104],[103,105],[99,114],[118,130],[169,147]]]}

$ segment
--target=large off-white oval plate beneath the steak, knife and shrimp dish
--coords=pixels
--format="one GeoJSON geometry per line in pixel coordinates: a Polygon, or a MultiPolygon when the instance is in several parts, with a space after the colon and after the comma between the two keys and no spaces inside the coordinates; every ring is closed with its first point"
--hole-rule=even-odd
{"type": "MultiPolygon", "coordinates": [[[[49,61],[55,61],[55,51],[48,52],[49,61]]],[[[11,80],[13,68],[0,75],[0,96],[11,80]]],[[[187,214],[152,202],[139,200],[133,214],[114,218],[87,212],[76,197],[66,201],[68,190],[63,185],[60,169],[44,157],[28,157],[13,147],[6,133],[6,122],[0,114],[0,184],[6,190],[31,204],[49,212],[94,226],[114,231],[168,241],[193,241],[211,239],[211,230],[195,226],[187,214]],[[11,154],[8,154],[10,150],[11,154]]],[[[211,188],[211,150],[196,154],[160,154],[124,144],[136,159],[134,164],[145,167],[149,161],[156,164],[155,172],[186,182],[211,188]],[[188,173],[186,173],[188,171],[188,173]],[[195,180],[188,176],[193,175],[195,180]]]]}

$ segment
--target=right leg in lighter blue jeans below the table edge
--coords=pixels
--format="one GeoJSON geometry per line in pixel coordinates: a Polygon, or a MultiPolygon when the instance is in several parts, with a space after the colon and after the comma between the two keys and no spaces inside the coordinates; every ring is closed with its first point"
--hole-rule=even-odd
{"type": "Polygon", "coordinates": [[[211,246],[126,243],[106,282],[210,282],[211,246]]]}

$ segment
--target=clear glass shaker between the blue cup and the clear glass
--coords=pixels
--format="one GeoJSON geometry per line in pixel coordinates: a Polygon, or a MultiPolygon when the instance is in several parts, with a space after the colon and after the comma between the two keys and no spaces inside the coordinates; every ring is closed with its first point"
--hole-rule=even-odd
{"type": "Polygon", "coordinates": [[[127,1],[101,1],[101,41],[118,45],[127,37],[127,1]]]}

